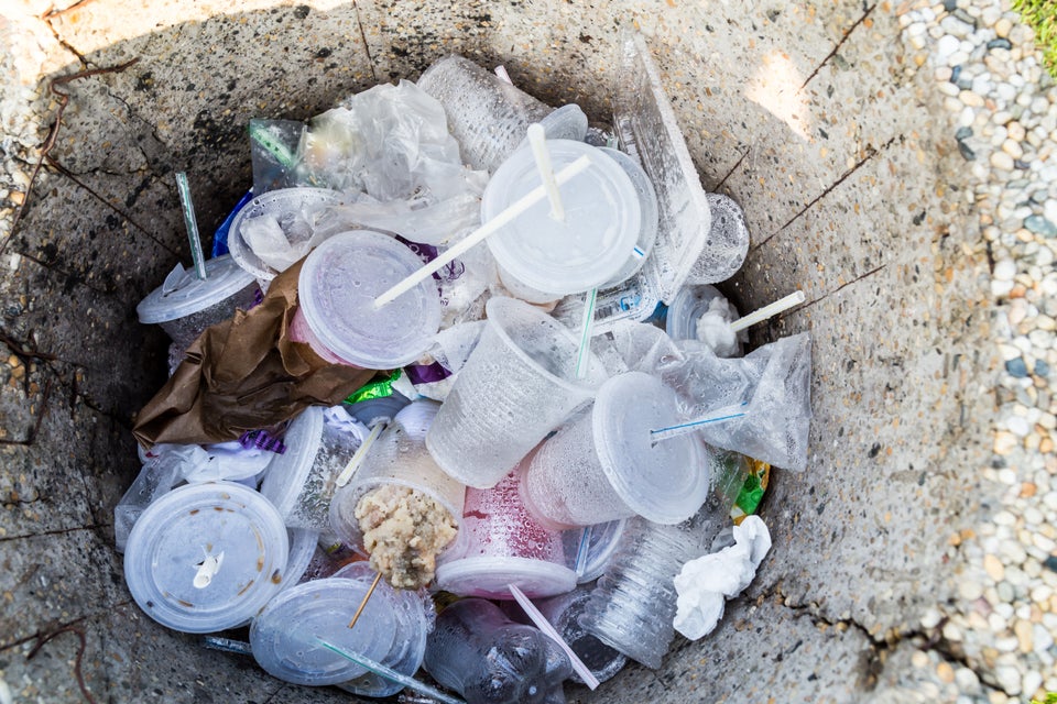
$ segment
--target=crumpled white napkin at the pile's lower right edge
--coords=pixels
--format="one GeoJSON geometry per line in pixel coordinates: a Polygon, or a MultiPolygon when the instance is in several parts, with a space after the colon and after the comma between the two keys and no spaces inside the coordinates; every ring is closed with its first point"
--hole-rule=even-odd
{"type": "Polygon", "coordinates": [[[716,628],[726,600],[749,586],[771,550],[771,532],[759,516],[747,517],[733,532],[734,544],[690,560],[675,576],[678,598],[673,626],[690,640],[716,628]]]}

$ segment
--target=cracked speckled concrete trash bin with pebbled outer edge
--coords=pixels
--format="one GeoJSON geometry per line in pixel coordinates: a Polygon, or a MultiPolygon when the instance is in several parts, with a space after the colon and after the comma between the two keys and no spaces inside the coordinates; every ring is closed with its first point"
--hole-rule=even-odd
{"type": "Polygon", "coordinates": [[[568,685],[568,701],[1057,690],[1057,124],[1015,13],[982,0],[14,4],[0,9],[0,702],[85,701],[80,676],[97,702],[349,700],[206,650],[126,588],[112,509],[167,354],[134,310],[189,263],[173,174],[188,174],[209,234],[250,183],[250,119],[305,120],[453,52],[603,123],[629,28],[705,189],[744,210],[750,253],[720,287],[745,311],[807,295],[752,341],[811,333],[814,419],[808,470],[776,471],[765,499],[774,549],[719,628],[676,639],[660,671],[568,685]]]}

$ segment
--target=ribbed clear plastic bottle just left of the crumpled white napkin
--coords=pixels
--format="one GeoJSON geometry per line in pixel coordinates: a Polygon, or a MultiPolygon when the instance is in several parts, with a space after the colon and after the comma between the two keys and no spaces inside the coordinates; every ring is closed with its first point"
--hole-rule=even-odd
{"type": "Polygon", "coordinates": [[[609,568],[598,580],[580,624],[602,642],[656,670],[675,630],[673,580],[687,560],[710,551],[730,524],[730,507],[748,473],[740,454],[713,454],[713,488],[700,510],[675,526],[635,516],[628,521],[609,568]]]}

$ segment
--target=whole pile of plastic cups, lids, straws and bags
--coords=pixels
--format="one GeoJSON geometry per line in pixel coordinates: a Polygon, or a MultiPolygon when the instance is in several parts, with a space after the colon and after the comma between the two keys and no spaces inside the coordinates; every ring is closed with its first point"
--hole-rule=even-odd
{"type": "Polygon", "coordinates": [[[194,266],[138,308],[171,377],[116,508],[145,614],[287,682],[469,704],[715,628],[770,468],[806,466],[810,341],[743,354],[803,298],[740,317],[712,286],[744,218],[641,37],[623,62],[611,125],[455,55],[254,120],[209,258],[182,188],[194,266]]]}

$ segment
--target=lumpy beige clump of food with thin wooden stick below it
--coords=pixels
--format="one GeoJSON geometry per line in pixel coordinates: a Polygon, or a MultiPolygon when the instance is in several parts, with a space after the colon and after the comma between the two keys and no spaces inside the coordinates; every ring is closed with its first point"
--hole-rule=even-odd
{"type": "Polygon", "coordinates": [[[397,588],[433,581],[437,554],[458,531],[451,513],[436,499],[396,484],[364,494],[355,515],[371,566],[397,588]]]}

